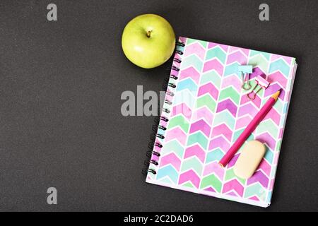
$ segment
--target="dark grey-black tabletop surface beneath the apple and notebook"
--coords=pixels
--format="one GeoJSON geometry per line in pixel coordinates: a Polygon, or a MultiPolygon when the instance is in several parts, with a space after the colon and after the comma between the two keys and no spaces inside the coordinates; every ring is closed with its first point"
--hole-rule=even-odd
{"type": "Polygon", "coordinates": [[[0,210],[318,210],[318,1],[0,1],[0,210]],[[48,22],[47,4],[58,7],[48,22]],[[120,96],[161,90],[170,63],[140,69],[124,25],[158,13],[176,35],[296,57],[272,204],[257,208],[146,184],[153,117],[120,96]],[[47,205],[47,188],[58,204],[47,205]]]}

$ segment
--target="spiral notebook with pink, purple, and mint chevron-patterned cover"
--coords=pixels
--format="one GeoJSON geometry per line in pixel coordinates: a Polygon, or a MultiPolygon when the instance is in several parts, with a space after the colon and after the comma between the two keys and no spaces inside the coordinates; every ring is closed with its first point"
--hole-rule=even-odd
{"type": "Polygon", "coordinates": [[[179,37],[146,182],[269,206],[296,68],[293,57],[179,37]],[[271,83],[253,101],[237,73],[246,64],[253,65],[252,86],[259,75],[271,83]],[[252,177],[240,179],[233,166],[242,148],[225,168],[218,160],[279,89],[276,104],[248,138],[264,143],[266,154],[252,177]]]}

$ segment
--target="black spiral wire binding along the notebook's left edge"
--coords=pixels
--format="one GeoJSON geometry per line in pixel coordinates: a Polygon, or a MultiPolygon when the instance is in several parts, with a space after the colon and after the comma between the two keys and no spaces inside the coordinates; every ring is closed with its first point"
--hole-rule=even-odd
{"type": "MultiPolygon", "coordinates": [[[[185,46],[185,44],[183,42],[177,42],[176,44],[177,44],[177,46],[180,46],[180,47],[184,47],[185,46]]],[[[175,50],[175,53],[179,54],[179,55],[183,54],[183,52],[181,50],[175,50]]],[[[177,57],[175,57],[172,60],[172,63],[173,62],[177,62],[179,64],[179,63],[182,62],[182,60],[177,58],[177,57]]],[[[178,72],[180,69],[177,66],[172,65],[171,70],[178,72]]],[[[172,75],[172,74],[170,74],[169,78],[172,78],[174,80],[178,79],[177,76],[172,75]]],[[[165,78],[165,83],[163,84],[163,90],[166,90],[165,91],[166,95],[170,95],[171,97],[173,97],[175,95],[175,93],[173,93],[170,90],[167,90],[167,87],[175,89],[177,87],[177,85],[175,85],[175,83],[169,82],[169,80],[170,80],[169,78],[165,78]]],[[[172,102],[170,100],[165,100],[165,104],[172,105],[172,102]]],[[[160,109],[160,107],[158,107],[158,109],[160,109]]],[[[170,113],[170,109],[163,108],[163,112],[166,112],[167,114],[169,114],[170,113]]],[[[145,175],[148,172],[151,172],[152,174],[157,174],[155,169],[149,168],[150,165],[158,165],[158,161],[151,159],[151,157],[153,155],[155,155],[157,157],[160,157],[160,153],[158,153],[157,151],[153,150],[154,146],[157,146],[158,148],[163,148],[163,145],[161,143],[155,142],[155,138],[160,138],[162,140],[165,138],[165,136],[163,136],[163,134],[160,134],[159,131],[165,131],[167,128],[165,126],[163,126],[163,125],[160,125],[160,121],[167,122],[167,121],[169,121],[169,119],[167,119],[166,117],[163,117],[163,116],[158,116],[158,117],[155,117],[155,119],[153,121],[154,121],[155,124],[153,124],[153,127],[152,127],[152,131],[153,132],[151,133],[151,136],[150,136],[151,141],[148,143],[148,150],[146,152],[146,156],[148,157],[148,160],[144,161],[145,167],[142,170],[143,174],[145,174],[145,175]]]]}

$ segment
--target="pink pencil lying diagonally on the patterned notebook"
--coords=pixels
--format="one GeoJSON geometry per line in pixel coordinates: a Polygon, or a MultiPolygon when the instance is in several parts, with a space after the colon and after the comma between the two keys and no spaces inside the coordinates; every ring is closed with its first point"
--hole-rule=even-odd
{"type": "Polygon", "coordinates": [[[232,159],[232,157],[237,153],[237,150],[240,149],[240,147],[243,145],[243,143],[247,140],[249,135],[257,128],[257,125],[261,122],[261,120],[264,119],[267,113],[269,113],[269,110],[273,105],[275,104],[276,100],[278,99],[279,93],[281,93],[280,90],[278,90],[276,93],[274,93],[269,100],[265,103],[265,105],[259,110],[257,115],[255,115],[254,119],[249,123],[249,125],[245,128],[245,130],[241,133],[241,135],[237,138],[235,143],[230,147],[228,152],[222,157],[220,164],[222,167],[225,167],[228,165],[228,162],[232,159]]]}

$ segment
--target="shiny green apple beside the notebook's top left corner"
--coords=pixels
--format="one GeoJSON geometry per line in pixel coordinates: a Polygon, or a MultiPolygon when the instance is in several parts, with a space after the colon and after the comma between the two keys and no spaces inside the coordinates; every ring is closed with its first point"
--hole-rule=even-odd
{"type": "Polygon", "coordinates": [[[175,32],[161,16],[137,16],[124,28],[122,49],[131,62],[144,69],[151,69],[171,57],[175,49],[175,32]]]}

